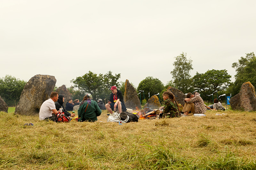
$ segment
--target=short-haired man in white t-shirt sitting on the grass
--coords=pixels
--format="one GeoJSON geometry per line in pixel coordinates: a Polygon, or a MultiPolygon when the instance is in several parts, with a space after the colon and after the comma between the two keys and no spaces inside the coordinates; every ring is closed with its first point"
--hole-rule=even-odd
{"type": "Polygon", "coordinates": [[[51,120],[54,121],[58,111],[55,108],[54,102],[59,98],[57,92],[51,92],[50,99],[45,100],[40,107],[39,120],[51,120]]]}

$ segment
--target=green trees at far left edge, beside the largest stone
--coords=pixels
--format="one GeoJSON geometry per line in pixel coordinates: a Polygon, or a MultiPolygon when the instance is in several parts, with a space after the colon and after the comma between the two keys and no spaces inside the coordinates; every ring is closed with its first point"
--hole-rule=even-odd
{"type": "Polygon", "coordinates": [[[20,94],[25,86],[24,80],[11,75],[0,78],[0,95],[8,106],[14,106],[20,100],[20,94]]]}

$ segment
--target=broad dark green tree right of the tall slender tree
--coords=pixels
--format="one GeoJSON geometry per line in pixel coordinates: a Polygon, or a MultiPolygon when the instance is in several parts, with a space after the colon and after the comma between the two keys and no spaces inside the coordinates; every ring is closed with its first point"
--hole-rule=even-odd
{"type": "Polygon", "coordinates": [[[226,89],[230,83],[231,76],[227,70],[208,70],[205,73],[198,73],[193,77],[192,85],[196,90],[199,90],[201,97],[208,99],[206,95],[212,94],[215,91],[226,89]]]}

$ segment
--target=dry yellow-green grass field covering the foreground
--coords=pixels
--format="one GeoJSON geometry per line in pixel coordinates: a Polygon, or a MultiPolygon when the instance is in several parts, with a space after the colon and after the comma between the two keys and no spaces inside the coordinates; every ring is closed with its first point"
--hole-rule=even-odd
{"type": "Polygon", "coordinates": [[[256,112],[124,125],[106,111],[94,123],[0,113],[0,169],[256,169],[256,112]]]}

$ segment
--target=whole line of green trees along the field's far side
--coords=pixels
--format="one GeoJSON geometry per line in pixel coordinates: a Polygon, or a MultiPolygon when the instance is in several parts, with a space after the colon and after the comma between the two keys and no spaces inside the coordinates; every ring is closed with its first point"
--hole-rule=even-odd
{"type": "MultiPolygon", "coordinates": [[[[204,100],[212,100],[208,96],[217,91],[219,94],[232,94],[235,96],[240,91],[240,87],[244,82],[250,81],[252,85],[256,85],[256,57],[254,53],[246,53],[238,62],[232,64],[232,68],[236,69],[235,82],[231,82],[231,76],[227,70],[207,70],[205,73],[196,72],[195,76],[191,76],[190,71],[193,70],[193,61],[187,58],[187,54],[182,52],[174,57],[174,69],[170,71],[171,80],[164,85],[158,78],[146,77],[136,88],[137,93],[148,100],[152,95],[161,94],[166,91],[170,85],[181,90],[183,93],[198,91],[204,100]]],[[[111,71],[106,74],[96,74],[89,70],[83,76],[70,80],[74,85],[68,87],[73,99],[82,100],[85,94],[91,94],[94,100],[109,98],[109,88],[115,85],[124,94],[125,82],[119,82],[121,74],[113,75],[111,71]]],[[[0,78],[0,95],[8,106],[17,104],[20,94],[26,82],[17,79],[11,75],[0,78]]],[[[215,94],[217,95],[217,94],[215,94]]],[[[140,96],[139,96],[140,97],[140,96]]],[[[217,96],[216,96],[217,97],[217,96]]],[[[160,100],[161,97],[160,97],[160,100]]]]}

